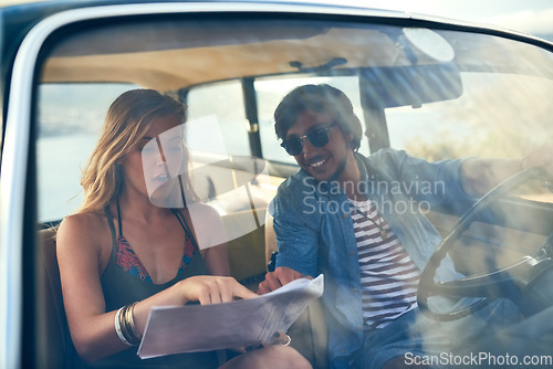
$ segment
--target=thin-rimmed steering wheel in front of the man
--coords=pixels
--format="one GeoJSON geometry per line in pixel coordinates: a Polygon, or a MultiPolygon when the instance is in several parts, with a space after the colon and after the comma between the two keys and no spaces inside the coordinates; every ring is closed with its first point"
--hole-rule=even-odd
{"type": "Polygon", "coordinates": [[[497,287],[499,284],[513,283],[513,275],[525,280],[535,275],[535,268],[544,268],[550,264],[544,265],[541,261],[550,260],[553,251],[553,233],[547,238],[545,243],[540,247],[534,257],[525,256],[518,263],[505,268],[497,270],[491,273],[480,274],[471,277],[463,277],[458,281],[437,282],[435,281],[436,271],[441,261],[451,250],[455,242],[470,226],[474,217],[482,210],[490,207],[499,198],[504,197],[521,183],[530,180],[542,178],[542,168],[530,168],[521,171],[511,178],[507,179],[494,189],[489,191],[479,201],[477,201],[458,221],[453,230],[441,241],[430,257],[428,264],[420,275],[417,303],[420,310],[431,319],[440,321],[449,321],[471,315],[490,303],[489,297],[499,297],[490,293],[490,287],[497,287]],[[540,265],[541,264],[541,265],[540,265]],[[448,297],[480,297],[470,305],[462,307],[456,312],[436,313],[432,312],[428,304],[428,298],[431,296],[448,296],[448,297]]]}

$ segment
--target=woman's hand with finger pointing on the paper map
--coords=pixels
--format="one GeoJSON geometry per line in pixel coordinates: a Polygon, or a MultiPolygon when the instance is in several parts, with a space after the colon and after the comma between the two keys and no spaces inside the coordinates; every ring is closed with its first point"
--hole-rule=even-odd
{"type": "Polygon", "coordinates": [[[178,283],[178,288],[188,302],[201,305],[229,303],[237,298],[253,298],[258,295],[232,277],[197,275],[178,283]]]}

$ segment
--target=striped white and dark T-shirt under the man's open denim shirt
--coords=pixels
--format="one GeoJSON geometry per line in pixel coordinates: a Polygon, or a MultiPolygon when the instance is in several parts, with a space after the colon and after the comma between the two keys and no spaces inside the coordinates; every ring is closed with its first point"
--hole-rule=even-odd
{"type": "Polygon", "coordinates": [[[384,328],[417,306],[420,272],[369,200],[349,202],[365,329],[384,328]]]}

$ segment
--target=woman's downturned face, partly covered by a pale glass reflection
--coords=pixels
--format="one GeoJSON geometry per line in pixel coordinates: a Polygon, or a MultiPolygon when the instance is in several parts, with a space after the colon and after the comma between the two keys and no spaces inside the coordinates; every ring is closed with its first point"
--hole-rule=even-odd
{"type": "Polygon", "coordinates": [[[184,126],[173,115],[154,119],[138,145],[123,161],[126,190],[148,196],[163,204],[179,175],[187,169],[184,126]]]}

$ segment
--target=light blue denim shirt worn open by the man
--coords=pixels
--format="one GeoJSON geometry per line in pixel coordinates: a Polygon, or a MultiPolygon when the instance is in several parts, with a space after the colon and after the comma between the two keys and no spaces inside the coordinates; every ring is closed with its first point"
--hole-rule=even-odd
{"type": "MultiPolygon", "coordinates": [[[[355,158],[362,176],[359,190],[422,270],[441,241],[422,213],[429,207],[467,198],[459,181],[462,161],[428,162],[394,149],[368,158],[356,154],[355,158]]],[[[270,211],[279,244],[276,266],[325,276],[322,299],[330,360],[333,368],[347,368],[363,345],[359,264],[347,197],[336,183],[317,182],[300,170],[280,186],[270,211]]],[[[446,281],[456,276],[446,259],[437,277],[446,281]]]]}

